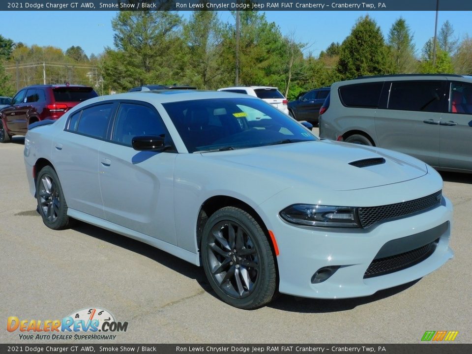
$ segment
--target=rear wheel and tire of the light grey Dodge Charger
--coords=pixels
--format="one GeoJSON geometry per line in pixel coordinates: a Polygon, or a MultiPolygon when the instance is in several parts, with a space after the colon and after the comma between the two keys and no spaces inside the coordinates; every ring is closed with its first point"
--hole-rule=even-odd
{"type": "Polygon", "coordinates": [[[51,166],[44,167],[38,174],[36,200],[44,225],[53,230],[61,230],[69,225],[64,193],[59,177],[51,166]]]}

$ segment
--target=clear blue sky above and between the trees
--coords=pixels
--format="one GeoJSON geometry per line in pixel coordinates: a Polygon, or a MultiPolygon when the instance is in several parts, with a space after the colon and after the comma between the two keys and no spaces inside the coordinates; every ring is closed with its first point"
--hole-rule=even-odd
{"type": "MultiPolygon", "coordinates": [[[[63,51],[80,46],[88,56],[98,55],[107,46],[114,48],[111,21],[116,14],[115,11],[2,11],[0,34],[29,46],[52,45],[63,51]]],[[[179,14],[188,18],[190,11],[179,14]]],[[[418,56],[424,43],[434,36],[435,11],[266,11],[266,18],[275,22],[282,34],[294,34],[297,41],[306,43],[306,54],[317,57],[330,43],[341,43],[356,20],[366,14],[377,22],[385,39],[395,20],[403,17],[413,34],[418,56]]],[[[229,11],[220,11],[219,16],[224,22],[234,22],[229,11]]],[[[440,11],[438,32],[449,20],[459,40],[466,35],[472,37],[471,16],[470,11],[440,11]]]]}

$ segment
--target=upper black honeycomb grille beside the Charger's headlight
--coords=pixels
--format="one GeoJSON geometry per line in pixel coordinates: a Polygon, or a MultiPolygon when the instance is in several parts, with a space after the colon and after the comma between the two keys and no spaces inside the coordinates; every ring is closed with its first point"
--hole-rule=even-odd
{"type": "Polygon", "coordinates": [[[385,220],[396,219],[415,214],[441,204],[442,191],[407,202],[379,207],[359,207],[359,220],[363,228],[385,220]]]}

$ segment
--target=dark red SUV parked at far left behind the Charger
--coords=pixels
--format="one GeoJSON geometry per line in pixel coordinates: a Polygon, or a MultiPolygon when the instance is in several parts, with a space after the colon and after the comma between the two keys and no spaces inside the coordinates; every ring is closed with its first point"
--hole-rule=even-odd
{"type": "Polygon", "coordinates": [[[78,103],[98,94],[89,86],[34,85],[18,91],[11,104],[0,110],[0,143],[12,135],[26,135],[28,125],[58,119],[78,103]]]}

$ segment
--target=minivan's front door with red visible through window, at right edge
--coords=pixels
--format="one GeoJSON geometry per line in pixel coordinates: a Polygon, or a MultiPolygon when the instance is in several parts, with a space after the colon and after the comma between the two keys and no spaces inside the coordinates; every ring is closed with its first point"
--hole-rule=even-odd
{"type": "Polygon", "coordinates": [[[439,166],[472,170],[472,84],[451,82],[449,87],[449,113],[439,129],[439,166]]]}

